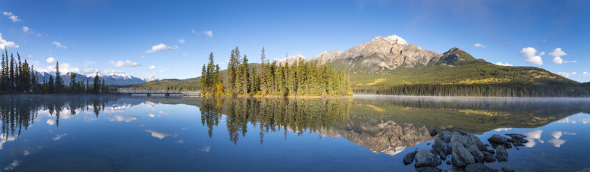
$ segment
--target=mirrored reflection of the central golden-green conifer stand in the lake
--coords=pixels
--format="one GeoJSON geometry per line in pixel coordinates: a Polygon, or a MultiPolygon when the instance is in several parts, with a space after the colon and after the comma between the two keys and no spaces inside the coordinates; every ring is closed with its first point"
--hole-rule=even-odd
{"type": "Polygon", "coordinates": [[[259,128],[260,144],[268,132],[287,130],[302,135],[322,128],[331,128],[349,114],[349,99],[345,98],[202,98],[201,123],[213,137],[213,126],[218,126],[221,114],[229,140],[237,144],[248,132],[248,123],[259,128]]]}

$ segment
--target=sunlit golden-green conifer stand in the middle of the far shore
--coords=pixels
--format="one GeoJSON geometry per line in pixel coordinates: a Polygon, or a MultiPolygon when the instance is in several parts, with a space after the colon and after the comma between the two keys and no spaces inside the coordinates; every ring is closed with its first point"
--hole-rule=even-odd
{"type": "Polygon", "coordinates": [[[259,96],[350,96],[350,76],[334,71],[330,64],[298,59],[272,63],[266,59],[264,48],[260,65],[250,65],[246,55],[240,55],[236,46],[229,55],[227,70],[220,71],[209,54],[209,63],[203,65],[199,80],[205,95],[259,95],[259,96]]]}

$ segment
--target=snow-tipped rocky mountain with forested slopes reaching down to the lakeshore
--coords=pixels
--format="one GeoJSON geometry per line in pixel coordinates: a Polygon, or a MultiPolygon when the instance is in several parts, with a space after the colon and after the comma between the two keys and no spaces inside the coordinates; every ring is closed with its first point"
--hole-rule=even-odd
{"type": "MultiPolygon", "coordinates": [[[[437,53],[423,49],[397,35],[375,37],[345,51],[324,51],[313,58],[303,55],[289,55],[277,60],[279,63],[295,62],[297,59],[314,60],[319,64],[330,64],[334,70],[343,69],[350,74],[354,92],[369,94],[415,94],[415,90],[428,89],[420,95],[455,95],[464,90],[479,90],[467,95],[487,96],[572,96],[590,94],[588,84],[581,84],[553,74],[538,67],[506,67],[474,58],[472,55],[453,47],[437,53]],[[462,89],[453,89],[462,87],[462,89]],[[586,86],[584,86],[586,85],[586,86]],[[432,88],[437,86],[437,88],[432,88]],[[395,88],[395,93],[393,87],[395,88]],[[419,88],[429,87],[429,88],[419,88]],[[568,89],[563,88],[572,88],[568,89]],[[432,91],[436,89],[436,92],[432,91]],[[574,90],[575,89],[575,90],[574,90]],[[400,91],[401,90],[401,91],[400,91]],[[448,93],[448,90],[453,92],[448,93]],[[483,90],[483,91],[481,91],[483,90]],[[500,91],[498,91],[500,90],[500,91]],[[564,91],[565,90],[565,91],[564,91]],[[430,92],[432,91],[432,92],[430,92]],[[490,92],[494,93],[490,93],[490,92]],[[559,91],[559,94],[544,94],[559,91]],[[532,93],[534,92],[534,93],[532,93]],[[582,94],[578,94],[582,92],[582,94]]],[[[255,64],[251,64],[255,65],[255,64]]],[[[160,80],[130,87],[174,87],[178,84],[191,85],[198,89],[199,78],[188,80],[160,80]],[[148,86],[149,85],[149,86],[148,86]]]]}

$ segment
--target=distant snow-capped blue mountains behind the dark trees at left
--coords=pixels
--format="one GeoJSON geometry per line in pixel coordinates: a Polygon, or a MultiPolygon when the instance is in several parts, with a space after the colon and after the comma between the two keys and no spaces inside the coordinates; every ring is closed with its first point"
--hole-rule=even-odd
{"type": "MultiPolygon", "coordinates": [[[[50,76],[55,77],[55,72],[37,72],[38,74],[38,78],[39,78],[39,82],[43,83],[43,79],[45,79],[45,82],[47,82],[50,78],[50,76]]],[[[70,75],[73,74],[73,72],[67,72],[65,74],[61,74],[61,78],[63,79],[63,83],[64,84],[70,84],[70,75]]],[[[92,83],[94,80],[94,76],[96,74],[88,74],[88,75],[83,75],[83,74],[78,74],[78,73],[74,73],[76,74],[76,82],[80,82],[82,79],[84,79],[84,82],[86,82],[86,80],[88,80],[88,83],[92,83]]],[[[137,78],[135,76],[130,76],[128,74],[98,74],[98,77],[100,77],[100,80],[103,80],[103,78],[105,79],[105,83],[107,83],[108,85],[133,85],[133,84],[139,84],[139,83],[146,83],[148,81],[152,81],[152,80],[158,80],[158,78],[137,78]]]]}

